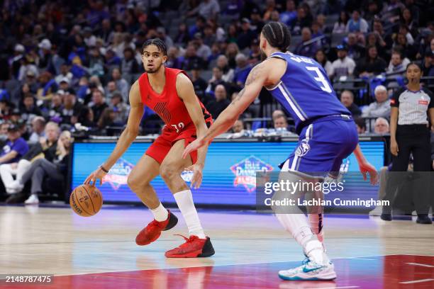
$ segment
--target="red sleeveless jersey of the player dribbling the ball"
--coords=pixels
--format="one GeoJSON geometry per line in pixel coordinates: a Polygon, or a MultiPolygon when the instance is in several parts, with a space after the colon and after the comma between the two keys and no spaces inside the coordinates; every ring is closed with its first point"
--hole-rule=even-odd
{"type": "MultiPolygon", "coordinates": [[[[142,103],[157,113],[165,122],[166,128],[174,132],[181,132],[185,128],[190,128],[191,125],[194,126],[184,102],[177,93],[176,84],[179,73],[187,75],[183,70],[165,67],[166,83],[161,94],[157,94],[150,86],[148,73],[143,73],[138,79],[142,103]]],[[[211,114],[206,111],[204,104],[201,101],[199,104],[206,122],[212,120],[211,114]]]]}

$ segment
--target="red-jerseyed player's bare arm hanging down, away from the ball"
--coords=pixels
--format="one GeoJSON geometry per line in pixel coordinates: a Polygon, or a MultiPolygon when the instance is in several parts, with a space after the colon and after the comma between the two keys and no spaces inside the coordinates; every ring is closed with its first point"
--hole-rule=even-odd
{"type": "MultiPolygon", "coordinates": [[[[206,134],[206,123],[204,119],[204,113],[202,112],[201,105],[199,104],[199,99],[197,98],[193,84],[191,80],[185,74],[178,74],[177,76],[177,93],[178,96],[184,101],[184,105],[189,112],[190,118],[194,123],[194,127],[196,128],[197,137],[204,137],[206,134]]],[[[199,170],[196,170],[194,165],[190,168],[194,170],[193,180],[191,181],[191,186],[196,184],[196,188],[199,188],[201,185],[201,169],[204,168],[206,152],[208,150],[208,144],[204,145],[197,151],[197,161],[196,166],[200,166],[199,170]]],[[[189,169],[189,168],[187,168],[189,169]]]]}

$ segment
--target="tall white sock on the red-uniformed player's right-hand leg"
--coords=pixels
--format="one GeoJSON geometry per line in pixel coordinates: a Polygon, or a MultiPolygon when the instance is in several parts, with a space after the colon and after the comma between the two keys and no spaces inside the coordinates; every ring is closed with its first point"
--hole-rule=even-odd
{"type": "Polygon", "coordinates": [[[193,196],[190,190],[174,193],[174,198],[177,201],[178,208],[184,217],[185,223],[189,228],[190,235],[196,235],[200,239],[205,239],[204,229],[202,229],[201,221],[197,215],[196,208],[193,203],[193,196]]]}

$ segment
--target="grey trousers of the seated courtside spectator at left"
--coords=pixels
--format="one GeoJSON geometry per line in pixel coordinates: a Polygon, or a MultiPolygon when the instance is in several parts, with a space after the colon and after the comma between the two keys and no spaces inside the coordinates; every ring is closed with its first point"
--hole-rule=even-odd
{"type": "Polygon", "coordinates": [[[32,163],[30,169],[23,174],[22,183],[32,180],[31,193],[37,194],[42,192],[42,183],[45,176],[51,179],[62,181],[63,175],[57,170],[57,166],[47,159],[37,159],[32,163]]]}

